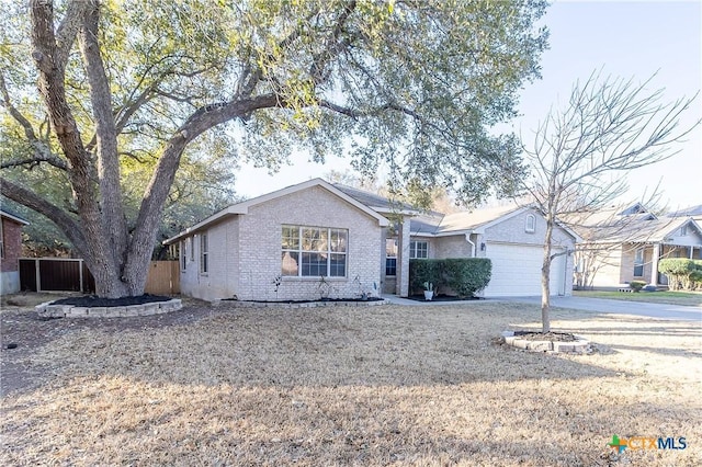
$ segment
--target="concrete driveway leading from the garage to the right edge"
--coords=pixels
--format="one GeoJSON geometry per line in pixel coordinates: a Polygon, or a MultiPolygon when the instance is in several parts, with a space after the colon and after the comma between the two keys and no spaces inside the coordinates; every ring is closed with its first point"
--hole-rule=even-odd
{"type": "MultiPolygon", "coordinates": [[[[509,297],[502,298],[501,300],[541,304],[541,297],[509,297]]],[[[587,297],[551,297],[551,306],[586,311],[702,322],[702,307],[683,307],[680,305],[647,304],[642,301],[610,300],[607,298],[587,297]]]]}

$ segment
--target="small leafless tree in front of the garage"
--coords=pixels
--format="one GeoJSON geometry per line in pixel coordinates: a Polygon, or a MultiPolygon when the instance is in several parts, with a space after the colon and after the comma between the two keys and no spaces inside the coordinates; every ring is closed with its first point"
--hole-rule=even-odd
{"type": "Polygon", "coordinates": [[[605,206],[626,190],[625,172],[671,157],[672,145],[692,130],[678,129],[678,119],[694,98],[661,103],[663,90],[647,90],[650,80],[634,83],[592,73],[574,86],[565,109],[548,113],[533,146],[523,148],[533,170],[519,183],[546,218],[543,332],[551,331],[551,263],[564,254],[552,252],[558,219],[605,206]]]}

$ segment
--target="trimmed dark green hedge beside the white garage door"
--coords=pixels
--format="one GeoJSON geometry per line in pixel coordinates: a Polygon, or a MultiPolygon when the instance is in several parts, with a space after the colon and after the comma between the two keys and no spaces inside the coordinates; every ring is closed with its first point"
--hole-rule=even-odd
{"type": "Polygon", "coordinates": [[[409,260],[410,293],[423,289],[424,282],[451,289],[460,297],[473,297],[490,282],[492,263],[487,258],[461,258],[446,260],[409,260]]]}

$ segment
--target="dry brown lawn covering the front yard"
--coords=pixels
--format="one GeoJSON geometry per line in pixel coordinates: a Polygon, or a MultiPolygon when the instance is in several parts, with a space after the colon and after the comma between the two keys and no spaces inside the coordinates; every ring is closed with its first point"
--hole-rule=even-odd
{"type": "Polygon", "coordinates": [[[539,327],[519,304],[2,315],[3,343],[38,340],[3,345],[0,465],[702,464],[699,322],[554,310],[596,343],[563,356],[495,342],[539,327]],[[613,434],[688,448],[618,456],[613,434]]]}

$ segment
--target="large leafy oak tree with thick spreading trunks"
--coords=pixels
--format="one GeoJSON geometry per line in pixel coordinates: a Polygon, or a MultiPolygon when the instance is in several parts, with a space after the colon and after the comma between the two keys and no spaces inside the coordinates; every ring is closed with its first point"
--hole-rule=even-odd
{"type": "MultiPolygon", "coordinates": [[[[348,152],[465,202],[521,170],[517,93],[539,77],[541,0],[33,0],[2,13],[2,169],[46,168],[65,200],[18,176],[1,193],[49,218],[98,294],[143,293],[184,151],[237,148],[275,169],[293,148],[348,152]],[[38,93],[37,93],[38,89],[38,93]],[[204,143],[202,143],[204,141],[204,143]],[[124,160],[150,158],[134,214],[124,160]]],[[[189,152],[191,153],[191,152],[189,152]]],[[[235,156],[231,155],[234,158],[235,156]]],[[[5,173],[5,172],[3,172],[5,173]]],[[[8,172],[10,173],[10,172],[8,172]]],[[[26,179],[29,180],[29,179],[26,179]]]]}

